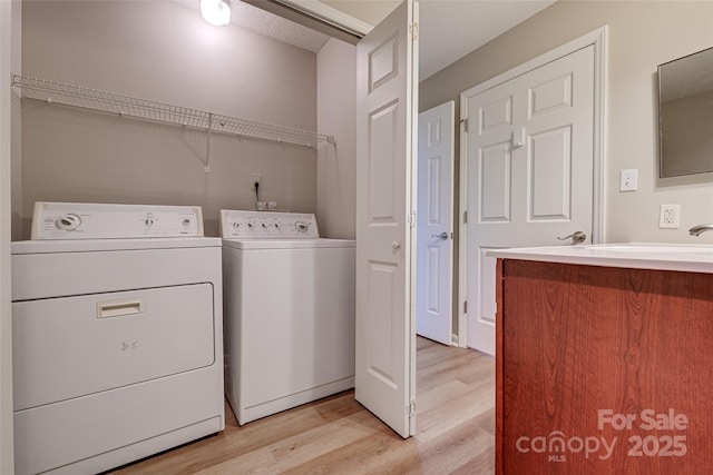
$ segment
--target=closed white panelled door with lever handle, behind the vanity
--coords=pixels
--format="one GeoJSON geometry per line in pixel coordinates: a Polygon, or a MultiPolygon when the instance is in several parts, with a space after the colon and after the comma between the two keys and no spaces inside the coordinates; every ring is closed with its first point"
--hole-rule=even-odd
{"type": "Polygon", "coordinates": [[[468,119],[468,346],[495,353],[494,248],[592,243],[594,46],[473,95],[468,119]]]}

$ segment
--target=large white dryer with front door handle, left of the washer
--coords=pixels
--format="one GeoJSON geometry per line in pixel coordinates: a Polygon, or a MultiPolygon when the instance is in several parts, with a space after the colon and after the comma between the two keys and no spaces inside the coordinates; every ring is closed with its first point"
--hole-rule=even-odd
{"type": "Polygon", "coordinates": [[[97,473],[225,427],[199,207],[38,202],[12,243],[14,467],[97,473]]]}

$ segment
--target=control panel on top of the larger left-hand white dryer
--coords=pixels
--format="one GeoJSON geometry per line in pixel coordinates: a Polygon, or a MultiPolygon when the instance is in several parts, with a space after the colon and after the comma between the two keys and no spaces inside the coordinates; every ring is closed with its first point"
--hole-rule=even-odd
{"type": "Polygon", "coordinates": [[[202,237],[199,206],[35,204],[32,239],[202,237]]]}

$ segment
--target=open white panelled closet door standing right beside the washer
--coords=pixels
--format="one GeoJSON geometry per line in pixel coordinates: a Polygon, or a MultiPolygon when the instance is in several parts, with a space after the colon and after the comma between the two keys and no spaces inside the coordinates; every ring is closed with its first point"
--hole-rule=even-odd
{"type": "Polygon", "coordinates": [[[416,190],[417,9],[411,0],[402,3],[356,48],[354,393],[402,437],[416,427],[410,218],[416,190]]]}

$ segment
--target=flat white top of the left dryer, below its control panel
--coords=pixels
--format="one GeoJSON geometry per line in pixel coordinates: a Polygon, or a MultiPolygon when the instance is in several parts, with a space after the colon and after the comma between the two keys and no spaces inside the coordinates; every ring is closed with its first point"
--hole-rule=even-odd
{"type": "Polygon", "coordinates": [[[76,239],[19,240],[10,243],[10,253],[91,253],[109,250],[178,249],[187,247],[218,247],[221,238],[144,238],[144,239],[76,239]]]}

